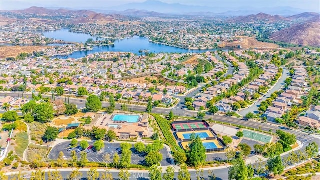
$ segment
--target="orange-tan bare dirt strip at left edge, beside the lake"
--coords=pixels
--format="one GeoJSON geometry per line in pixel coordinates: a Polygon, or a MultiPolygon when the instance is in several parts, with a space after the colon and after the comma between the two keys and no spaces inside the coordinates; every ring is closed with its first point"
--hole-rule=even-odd
{"type": "Polygon", "coordinates": [[[32,53],[33,51],[41,51],[52,46],[1,46],[0,58],[16,57],[21,52],[32,53]]]}

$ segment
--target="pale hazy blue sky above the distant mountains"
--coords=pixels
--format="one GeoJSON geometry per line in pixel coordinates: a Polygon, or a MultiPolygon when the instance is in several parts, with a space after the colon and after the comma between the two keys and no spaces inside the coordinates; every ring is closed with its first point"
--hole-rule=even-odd
{"type": "MultiPolygon", "coordinates": [[[[226,7],[228,10],[240,10],[243,7],[292,7],[306,11],[320,11],[320,0],[160,0],[166,3],[180,3],[185,5],[226,7]]],[[[101,9],[112,8],[143,0],[0,0],[1,10],[25,9],[30,6],[64,7],[72,9],[101,9]],[[76,2],[76,3],[75,3],[76,2]]]]}

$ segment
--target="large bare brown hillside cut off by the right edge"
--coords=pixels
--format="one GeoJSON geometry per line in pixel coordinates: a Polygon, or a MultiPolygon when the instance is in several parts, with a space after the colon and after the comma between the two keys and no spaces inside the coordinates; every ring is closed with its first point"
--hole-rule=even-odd
{"type": "Polygon", "coordinates": [[[320,22],[306,22],[274,32],[270,39],[298,45],[320,46],[320,22]]]}

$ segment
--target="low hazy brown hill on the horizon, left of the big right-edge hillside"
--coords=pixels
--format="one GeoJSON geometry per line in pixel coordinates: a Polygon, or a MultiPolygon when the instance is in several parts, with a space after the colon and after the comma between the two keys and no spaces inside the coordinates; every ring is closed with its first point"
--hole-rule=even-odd
{"type": "Polygon", "coordinates": [[[279,20],[288,20],[285,17],[282,17],[280,15],[269,15],[265,13],[258,13],[255,15],[247,15],[247,16],[238,16],[233,19],[230,19],[230,22],[235,23],[251,23],[256,21],[265,21],[265,22],[276,22],[279,20]]]}

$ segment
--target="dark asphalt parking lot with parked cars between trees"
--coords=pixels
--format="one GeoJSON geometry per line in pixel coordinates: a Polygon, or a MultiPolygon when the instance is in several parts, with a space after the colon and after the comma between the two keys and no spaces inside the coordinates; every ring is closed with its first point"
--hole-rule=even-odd
{"type": "MultiPolygon", "coordinates": [[[[68,145],[70,142],[62,142],[57,144],[50,152],[49,158],[50,159],[57,159],[59,156],[60,151],[64,153],[67,159],[70,159],[71,151],[67,151],[68,145]]],[[[90,145],[93,145],[93,142],[89,142],[90,145]]],[[[105,154],[110,154],[110,159],[112,161],[113,155],[117,153],[115,150],[116,148],[120,147],[120,143],[109,143],[105,142],[104,143],[104,148],[101,149],[98,152],[90,151],[87,153],[87,158],[91,162],[104,162],[103,156],[105,154]]],[[[144,159],[145,159],[145,153],[138,153],[135,151],[133,144],[132,144],[132,155],[131,155],[131,163],[132,164],[144,164],[144,159]]],[[[161,166],[167,166],[171,165],[171,159],[169,158],[168,151],[166,148],[163,148],[160,150],[160,153],[162,154],[162,161],[161,166]]],[[[78,158],[80,158],[80,152],[77,153],[78,158]]],[[[121,153],[119,153],[119,156],[121,156],[121,153]]]]}

